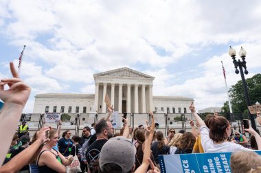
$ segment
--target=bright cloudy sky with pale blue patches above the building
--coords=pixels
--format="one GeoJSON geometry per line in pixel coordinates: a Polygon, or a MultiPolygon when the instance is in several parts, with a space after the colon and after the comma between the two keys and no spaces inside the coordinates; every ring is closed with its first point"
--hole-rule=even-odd
{"type": "Polygon", "coordinates": [[[35,94],[94,94],[93,74],[128,67],[155,77],[153,95],[186,96],[197,109],[227,101],[240,75],[227,51],[261,71],[261,1],[1,0],[0,79],[26,44],[21,78],[35,94]]]}

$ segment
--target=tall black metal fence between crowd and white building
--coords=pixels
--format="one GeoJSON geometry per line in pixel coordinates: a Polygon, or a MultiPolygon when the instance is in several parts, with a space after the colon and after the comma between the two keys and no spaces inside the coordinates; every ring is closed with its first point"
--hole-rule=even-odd
{"type": "MultiPolygon", "coordinates": [[[[209,113],[211,114],[211,113],[209,113]]],[[[121,115],[121,114],[120,114],[121,115]]],[[[198,114],[205,119],[207,116],[207,113],[204,114],[198,114]]],[[[213,115],[213,114],[212,114],[213,115]]],[[[242,114],[241,113],[233,113],[233,114],[223,114],[219,113],[219,116],[224,116],[229,120],[231,123],[232,129],[235,129],[237,131],[242,131],[242,126],[240,121],[242,120],[242,114]]],[[[63,127],[69,128],[69,130],[72,130],[75,132],[75,135],[80,135],[79,131],[80,126],[81,128],[84,126],[91,127],[91,124],[97,123],[98,120],[101,118],[104,118],[106,114],[62,114],[61,118],[63,119],[63,127]]],[[[156,113],[155,116],[155,122],[159,123],[159,130],[161,130],[165,135],[168,135],[168,129],[174,127],[175,129],[184,129],[185,131],[190,131],[190,120],[194,120],[194,117],[191,113],[176,113],[176,114],[166,114],[166,113],[156,113]]],[[[32,125],[33,128],[30,128],[30,130],[34,129],[39,130],[43,127],[45,114],[22,114],[21,115],[21,122],[28,122],[32,125]]],[[[146,124],[146,121],[148,121],[148,124],[151,124],[151,116],[147,113],[144,114],[127,114],[128,122],[131,125],[131,127],[134,129],[139,124],[146,124]]],[[[52,124],[53,126],[54,124],[52,124]]],[[[58,127],[58,124],[56,124],[58,127]]],[[[62,127],[62,128],[63,128],[62,127]]],[[[260,128],[260,127],[259,127],[260,128]]]]}

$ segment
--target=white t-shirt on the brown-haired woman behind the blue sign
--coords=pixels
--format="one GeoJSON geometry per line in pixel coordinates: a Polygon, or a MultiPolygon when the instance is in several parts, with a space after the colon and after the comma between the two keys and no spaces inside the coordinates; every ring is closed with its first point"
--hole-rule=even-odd
{"type": "Polygon", "coordinates": [[[212,139],[209,138],[209,129],[205,126],[201,127],[201,144],[204,152],[236,152],[239,150],[251,150],[234,142],[214,144],[212,139]]]}

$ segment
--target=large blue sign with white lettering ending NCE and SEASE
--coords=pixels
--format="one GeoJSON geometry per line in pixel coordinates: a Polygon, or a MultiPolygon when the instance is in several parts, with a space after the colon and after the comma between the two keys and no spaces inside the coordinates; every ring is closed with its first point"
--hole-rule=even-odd
{"type": "MultiPolygon", "coordinates": [[[[256,151],[261,155],[261,151],[256,151]]],[[[231,152],[159,155],[161,173],[231,172],[231,152]]]]}

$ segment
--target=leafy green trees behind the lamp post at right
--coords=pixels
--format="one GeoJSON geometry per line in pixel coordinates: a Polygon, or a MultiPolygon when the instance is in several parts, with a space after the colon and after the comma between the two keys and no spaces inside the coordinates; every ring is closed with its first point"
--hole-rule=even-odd
{"type": "MultiPolygon", "coordinates": [[[[261,74],[254,75],[253,77],[246,79],[246,83],[249,92],[250,104],[254,105],[257,101],[261,103],[261,74]]],[[[247,110],[245,92],[241,80],[238,81],[235,85],[231,86],[229,89],[229,95],[231,98],[233,112],[242,113],[247,110]]],[[[229,111],[228,101],[224,103],[222,109],[223,112],[229,111]]]]}

